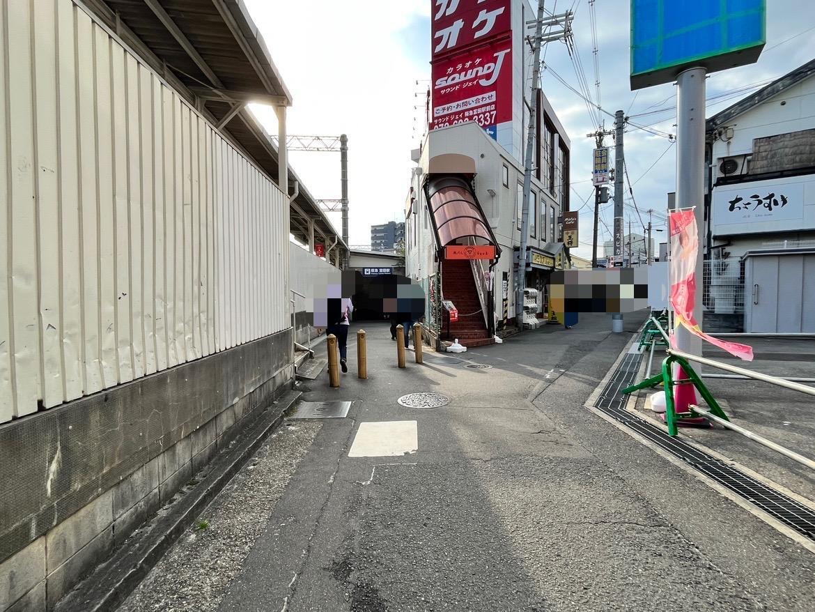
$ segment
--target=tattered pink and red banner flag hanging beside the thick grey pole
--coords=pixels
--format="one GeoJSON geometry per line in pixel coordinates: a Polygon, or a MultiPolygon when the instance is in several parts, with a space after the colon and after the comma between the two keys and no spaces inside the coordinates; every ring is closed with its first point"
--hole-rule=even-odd
{"type": "MultiPolygon", "coordinates": [[[[705,334],[694,316],[696,303],[696,258],[699,251],[698,230],[694,210],[671,212],[671,306],[676,322],[693,335],[717,346],[735,357],[753,361],[753,348],[747,344],[726,342],[705,334]]],[[[671,343],[676,348],[675,336],[671,343]]]]}

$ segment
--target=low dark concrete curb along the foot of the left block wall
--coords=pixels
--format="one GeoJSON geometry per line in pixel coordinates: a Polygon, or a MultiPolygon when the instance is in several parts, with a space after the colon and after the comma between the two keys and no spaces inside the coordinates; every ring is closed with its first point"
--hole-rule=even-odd
{"type": "Polygon", "coordinates": [[[231,478],[277,428],[302,395],[285,392],[276,404],[261,410],[230,446],[209,463],[209,473],[192,490],[159,510],[150,524],[137,531],[77,588],[55,606],[55,612],[116,610],[152,567],[183,534],[231,478]]]}

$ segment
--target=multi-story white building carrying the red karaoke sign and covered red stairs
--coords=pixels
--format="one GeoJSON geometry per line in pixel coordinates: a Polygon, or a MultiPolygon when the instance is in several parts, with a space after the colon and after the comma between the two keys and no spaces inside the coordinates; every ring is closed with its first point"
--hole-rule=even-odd
{"type": "Polygon", "coordinates": [[[532,87],[525,30],[535,10],[527,0],[487,0],[477,10],[442,3],[431,17],[430,131],[412,156],[407,275],[425,287],[430,335],[489,344],[496,329],[519,323],[514,274],[529,109],[536,114],[526,230],[531,290],[520,323],[544,316],[548,275],[568,267],[559,219],[569,210],[571,145],[546,96],[532,87]]]}

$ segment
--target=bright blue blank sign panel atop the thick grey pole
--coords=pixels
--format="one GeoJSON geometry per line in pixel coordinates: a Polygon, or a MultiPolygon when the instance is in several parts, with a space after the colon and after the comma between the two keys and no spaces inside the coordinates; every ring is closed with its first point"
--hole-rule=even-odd
{"type": "Polygon", "coordinates": [[[708,72],[758,60],[766,0],[632,0],[631,88],[671,82],[683,69],[708,72]]]}

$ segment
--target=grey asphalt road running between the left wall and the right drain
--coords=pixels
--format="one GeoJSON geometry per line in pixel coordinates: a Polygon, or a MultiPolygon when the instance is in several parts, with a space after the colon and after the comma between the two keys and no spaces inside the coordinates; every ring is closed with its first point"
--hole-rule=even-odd
{"type": "Polygon", "coordinates": [[[642,317],[404,370],[365,325],[367,380],[352,346],[302,385],[348,416],[289,421],[121,610],[815,610],[811,552],[583,407],[642,317]]]}

